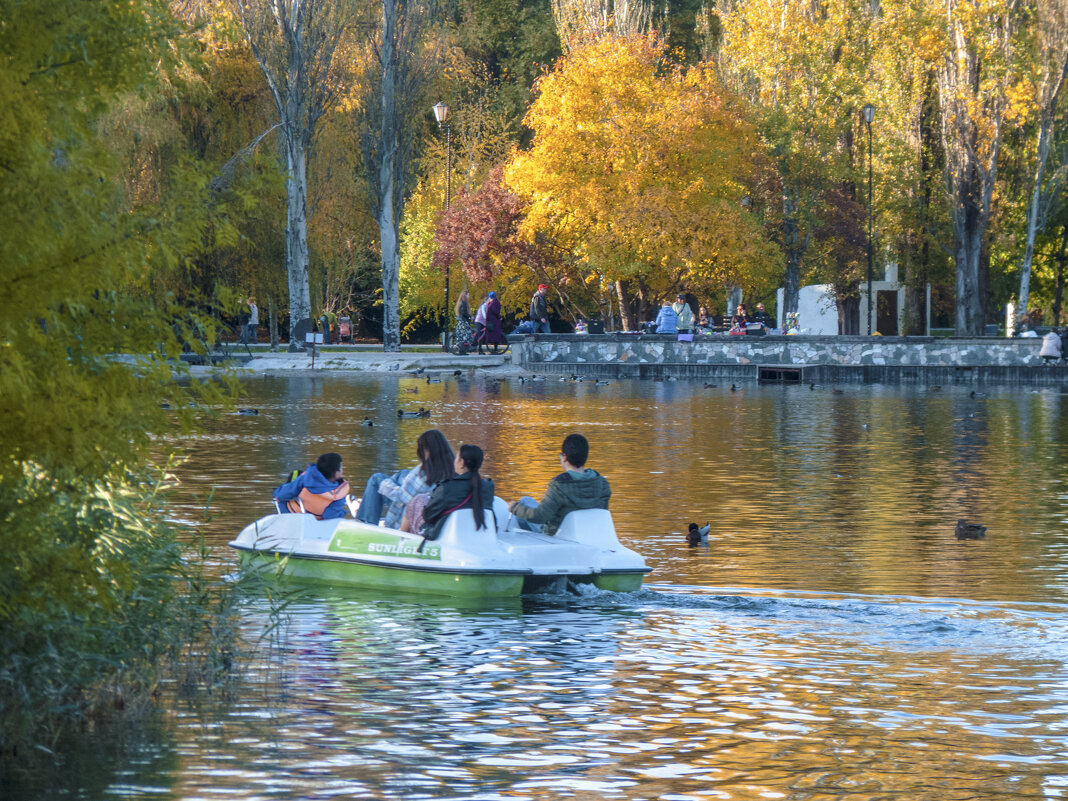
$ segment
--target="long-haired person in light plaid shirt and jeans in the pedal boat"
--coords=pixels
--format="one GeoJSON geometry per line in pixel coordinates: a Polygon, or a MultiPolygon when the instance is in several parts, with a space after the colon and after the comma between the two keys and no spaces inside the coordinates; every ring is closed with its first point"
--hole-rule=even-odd
{"type": "Polygon", "coordinates": [[[367,478],[367,487],[357,509],[356,519],[378,525],[386,511],[384,525],[399,529],[404,511],[411,499],[420,492],[429,492],[435,486],[453,474],[453,449],[445,435],[437,428],[423,431],[415,441],[419,467],[414,470],[398,470],[393,475],[375,473],[367,478]]]}

